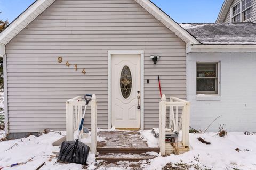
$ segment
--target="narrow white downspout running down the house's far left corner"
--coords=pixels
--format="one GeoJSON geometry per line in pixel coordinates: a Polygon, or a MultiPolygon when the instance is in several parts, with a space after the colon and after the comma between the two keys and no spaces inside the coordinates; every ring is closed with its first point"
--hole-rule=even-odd
{"type": "Polygon", "coordinates": [[[3,72],[4,72],[4,122],[5,122],[5,133],[9,134],[9,117],[8,117],[8,102],[7,102],[7,61],[5,54],[5,45],[0,44],[0,57],[3,58],[3,72]]]}

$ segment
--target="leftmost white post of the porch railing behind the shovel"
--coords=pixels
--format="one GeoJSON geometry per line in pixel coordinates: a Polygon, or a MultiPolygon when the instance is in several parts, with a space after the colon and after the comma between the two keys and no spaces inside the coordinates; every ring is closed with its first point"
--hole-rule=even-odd
{"type": "Polygon", "coordinates": [[[67,132],[67,141],[74,140],[74,126],[73,126],[73,106],[70,101],[66,102],[66,132],[67,132]]]}

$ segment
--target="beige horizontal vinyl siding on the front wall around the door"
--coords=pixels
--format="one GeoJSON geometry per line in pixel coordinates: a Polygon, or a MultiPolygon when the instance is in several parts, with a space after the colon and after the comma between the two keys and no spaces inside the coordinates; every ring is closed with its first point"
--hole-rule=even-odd
{"type": "Polygon", "coordinates": [[[10,133],[64,130],[65,101],[85,93],[97,94],[107,128],[108,50],[145,50],[145,128],[158,126],[157,75],[167,97],[186,98],[186,45],[139,4],[57,0],[6,46],[10,133]],[[161,56],[157,65],[150,55],[161,56]]]}

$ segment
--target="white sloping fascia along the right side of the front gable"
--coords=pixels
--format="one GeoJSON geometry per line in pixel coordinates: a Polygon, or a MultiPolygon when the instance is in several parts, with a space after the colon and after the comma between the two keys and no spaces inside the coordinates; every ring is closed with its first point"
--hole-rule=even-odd
{"type": "MultiPolygon", "coordinates": [[[[195,37],[193,37],[189,32],[187,32],[184,28],[182,28],[178,23],[173,21],[170,18],[170,16],[166,15],[163,11],[161,11],[155,4],[153,4],[149,0],[135,0],[135,1],[138,4],[140,4],[143,8],[145,8],[145,6],[143,6],[140,2],[146,4],[149,9],[151,9],[152,11],[157,13],[165,22],[169,23],[173,27],[173,29],[177,30],[181,35],[186,37],[191,43],[193,43],[193,44],[201,44],[195,37]]],[[[145,8],[145,10],[147,10],[150,13],[150,10],[148,10],[147,8],[145,8]]],[[[163,21],[161,21],[161,22],[163,22],[163,21]]],[[[169,29],[171,31],[173,31],[171,28],[169,28],[169,29]]],[[[178,37],[180,37],[180,35],[178,35],[175,31],[174,31],[174,33],[178,37]]]]}

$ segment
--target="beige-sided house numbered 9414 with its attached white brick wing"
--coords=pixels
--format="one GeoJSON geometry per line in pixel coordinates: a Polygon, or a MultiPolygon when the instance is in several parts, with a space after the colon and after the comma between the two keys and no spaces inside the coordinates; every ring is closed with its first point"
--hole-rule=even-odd
{"type": "Polygon", "coordinates": [[[222,115],[209,130],[252,130],[255,28],[178,24],[148,0],[38,0],[0,34],[6,132],[63,130],[65,102],[85,93],[100,128],[157,127],[158,75],[167,100],[191,101],[193,128],[222,115]]]}

